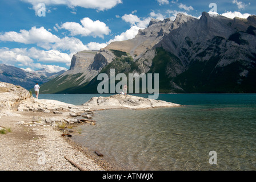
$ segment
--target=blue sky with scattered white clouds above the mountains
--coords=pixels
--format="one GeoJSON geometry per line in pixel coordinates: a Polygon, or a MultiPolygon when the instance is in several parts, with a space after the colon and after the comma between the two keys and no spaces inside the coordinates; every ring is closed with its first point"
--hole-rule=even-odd
{"type": "Polygon", "coordinates": [[[134,38],[151,18],[247,18],[255,10],[255,0],[0,0],[0,64],[58,72],[79,51],[134,38]]]}

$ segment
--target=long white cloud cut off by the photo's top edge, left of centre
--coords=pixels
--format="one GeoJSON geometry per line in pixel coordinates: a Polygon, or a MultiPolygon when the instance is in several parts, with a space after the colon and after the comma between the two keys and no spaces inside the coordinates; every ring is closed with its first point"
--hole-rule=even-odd
{"type": "Polygon", "coordinates": [[[97,9],[100,11],[108,10],[113,8],[114,6],[122,3],[122,0],[21,0],[30,3],[33,5],[33,9],[37,14],[38,8],[37,5],[39,3],[45,3],[46,6],[50,5],[66,5],[70,8],[74,7],[84,7],[89,9],[97,9]]]}

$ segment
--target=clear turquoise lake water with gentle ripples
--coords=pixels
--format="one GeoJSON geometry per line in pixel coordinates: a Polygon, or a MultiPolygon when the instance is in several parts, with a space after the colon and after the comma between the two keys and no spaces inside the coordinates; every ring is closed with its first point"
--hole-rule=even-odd
{"type": "MultiPolygon", "coordinates": [[[[109,95],[39,99],[81,105],[93,96],[109,95]]],[[[97,111],[97,125],[79,126],[82,133],[72,139],[131,170],[256,170],[256,94],[159,94],[159,100],[183,106],[97,111]],[[217,165],[209,163],[210,151],[217,165]]]]}

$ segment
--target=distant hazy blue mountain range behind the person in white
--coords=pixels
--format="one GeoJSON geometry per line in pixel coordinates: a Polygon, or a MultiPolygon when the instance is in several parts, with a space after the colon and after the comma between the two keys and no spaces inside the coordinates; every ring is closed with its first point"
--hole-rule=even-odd
{"type": "Polygon", "coordinates": [[[49,73],[45,70],[26,72],[20,68],[0,64],[0,81],[7,82],[9,84],[19,85],[27,90],[33,88],[35,83],[41,85],[49,81],[54,76],[62,73],[63,71],[59,73],[49,73]]]}

